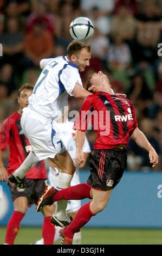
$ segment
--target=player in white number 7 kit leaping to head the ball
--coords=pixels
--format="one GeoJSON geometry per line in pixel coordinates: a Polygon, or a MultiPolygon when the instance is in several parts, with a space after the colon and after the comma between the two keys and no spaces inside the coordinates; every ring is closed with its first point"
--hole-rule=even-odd
{"type": "MultiPolygon", "coordinates": [[[[83,72],[86,66],[89,66],[90,57],[90,45],[73,40],[67,48],[67,56],[41,60],[43,71],[29,98],[29,106],[23,109],[21,119],[22,129],[29,138],[33,151],[9,176],[9,181],[16,186],[23,188],[23,178],[27,170],[38,161],[47,158],[60,169],[56,189],[61,190],[70,185],[75,166],[61,141],[55,119],[59,118],[63,107],[67,105],[68,95],[85,99],[91,94],[82,87],[79,75],[79,71],[83,72]]],[[[40,211],[39,203],[37,211],[40,211]]],[[[53,216],[56,225],[70,223],[65,209],[66,205],[62,200],[57,204],[57,211],[53,216]]]]}

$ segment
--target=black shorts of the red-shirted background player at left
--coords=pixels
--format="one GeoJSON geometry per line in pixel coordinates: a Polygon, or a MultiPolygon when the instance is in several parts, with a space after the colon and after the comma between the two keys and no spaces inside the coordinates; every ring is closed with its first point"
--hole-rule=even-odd
{"type": "Polygon", "coordinates": [[[27,197],[28,205],[36,204],[38,199],[42,196],[44,188],[47,186],[47,180],[45,179],[24,179],[25,189],[21,191],[20,188],[12,187],[9,184],[12,200],[14,201],[17,197],[27,197]]]}

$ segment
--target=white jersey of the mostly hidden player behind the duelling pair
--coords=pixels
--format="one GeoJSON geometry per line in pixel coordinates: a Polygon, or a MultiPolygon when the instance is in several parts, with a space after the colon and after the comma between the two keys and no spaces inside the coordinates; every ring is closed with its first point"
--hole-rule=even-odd
{"type": "MultiPolygon", "coordinates": [[[[76,157],[76,142],[75,133],[73,130],[74,123],[72,121],[66,121],[65,123],[57,123],[57,128],[60,131],[60,137],[64,144],[64,147],[69,152],[73,161],[76,157]]],[[[83,153],[90,153],[90,147],[87,138],[85,137],[85,143],[83,144],[83,153]]]]}

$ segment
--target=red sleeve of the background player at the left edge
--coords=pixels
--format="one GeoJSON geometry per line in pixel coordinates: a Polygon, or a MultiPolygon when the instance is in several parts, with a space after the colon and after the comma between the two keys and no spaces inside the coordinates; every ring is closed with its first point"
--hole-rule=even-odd
{"type": "Polygon", "coordinates": [[[10,138],[11,122],[9,119],[4,120],[0,130],[0,149],[4,150],[7,148],[10,138]]]}

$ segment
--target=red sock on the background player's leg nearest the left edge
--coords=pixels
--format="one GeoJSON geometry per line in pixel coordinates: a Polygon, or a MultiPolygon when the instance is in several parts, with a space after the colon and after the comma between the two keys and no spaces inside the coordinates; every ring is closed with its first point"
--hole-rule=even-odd
{"type": "Polygon", "coordinates": [[[15,238],[18,234],[18,230],[20,229],[20,222],[25,214],[22,212],[14,211],[7,225],[7,231],[5,234],[5,243],[9,243],[9,245],[13,245],[15,238]]]}

